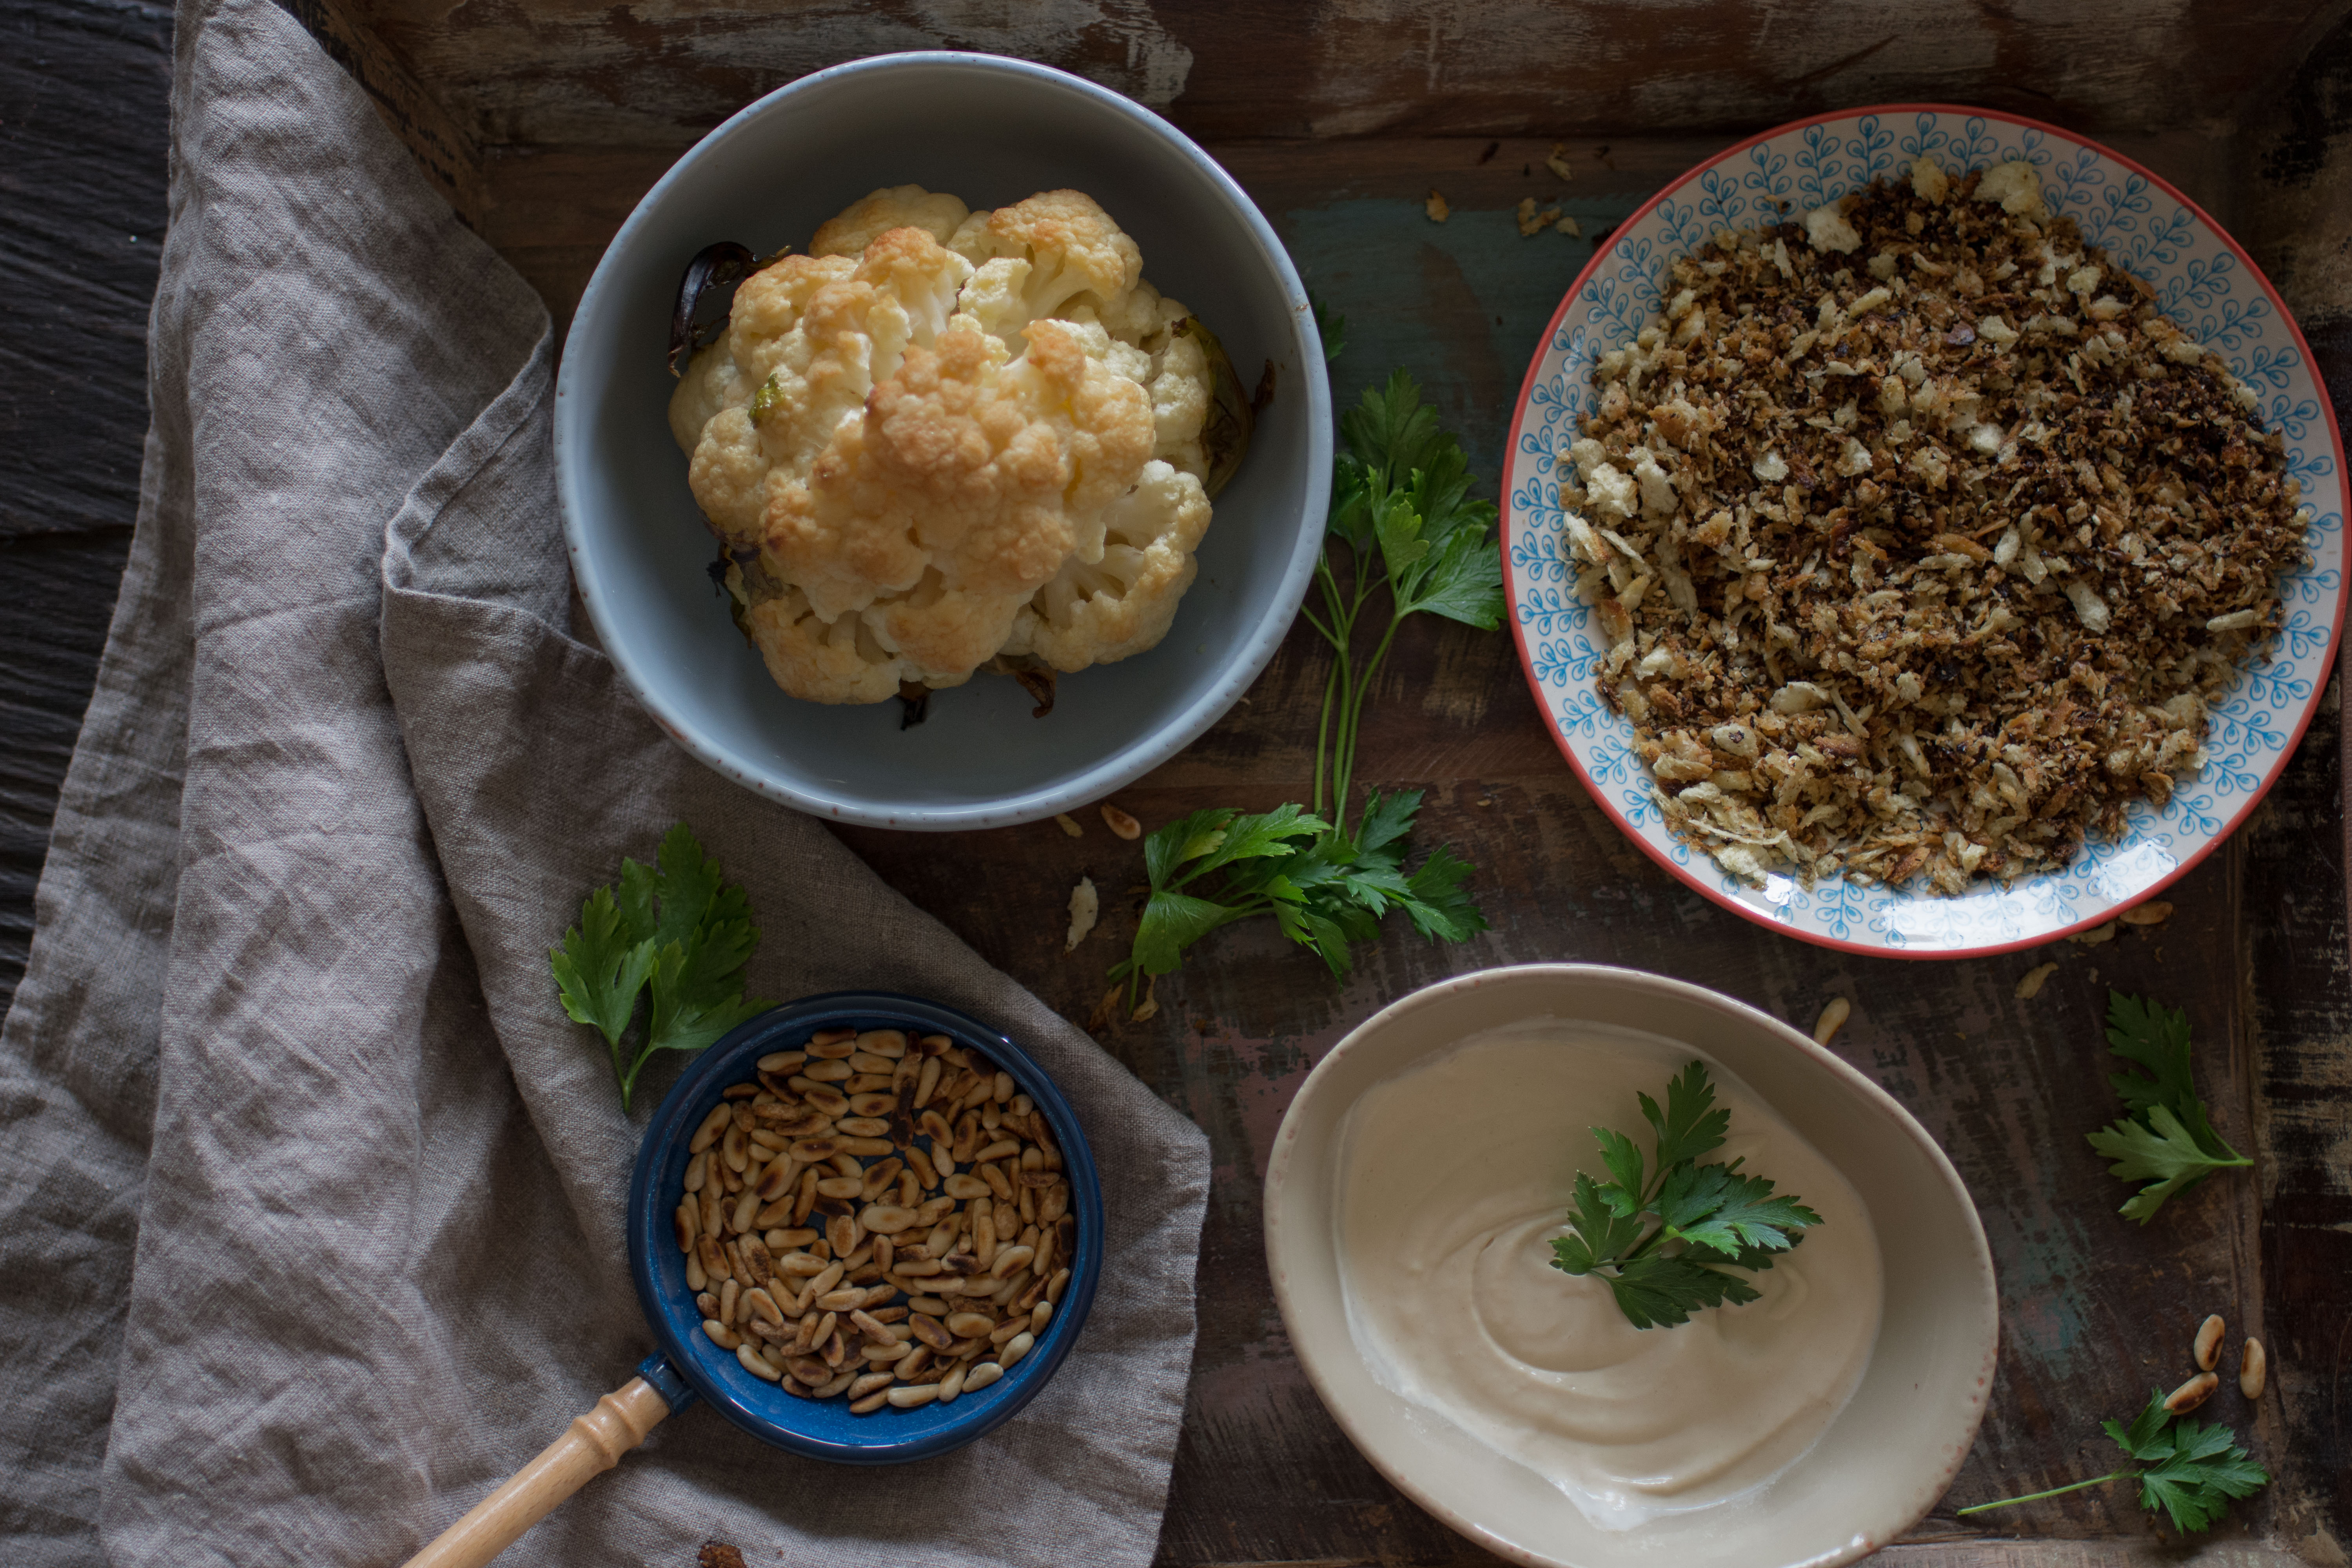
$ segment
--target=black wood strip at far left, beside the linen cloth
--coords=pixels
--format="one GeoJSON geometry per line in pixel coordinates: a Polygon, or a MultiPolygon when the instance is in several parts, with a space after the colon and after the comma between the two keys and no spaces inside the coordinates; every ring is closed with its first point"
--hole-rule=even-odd
{"type": "Polygon", "coordinates": [[[0,1009],[139,510],[172,7],[0,7],[0,1009]]]}

